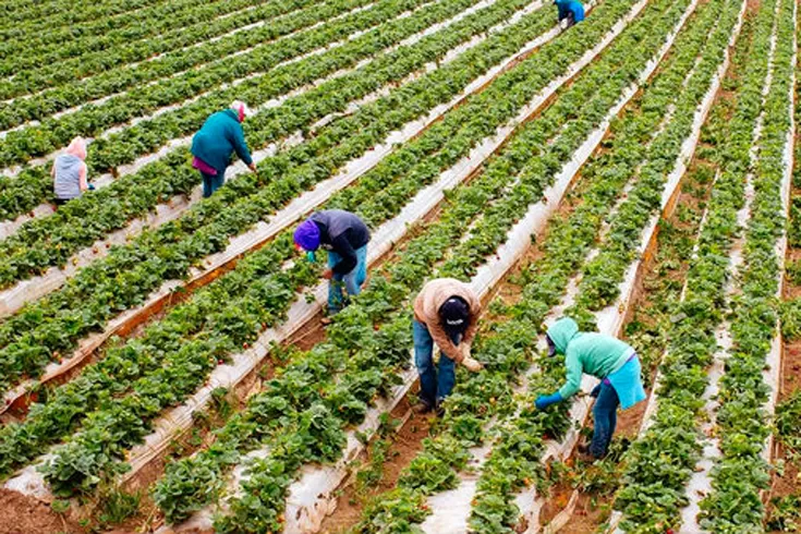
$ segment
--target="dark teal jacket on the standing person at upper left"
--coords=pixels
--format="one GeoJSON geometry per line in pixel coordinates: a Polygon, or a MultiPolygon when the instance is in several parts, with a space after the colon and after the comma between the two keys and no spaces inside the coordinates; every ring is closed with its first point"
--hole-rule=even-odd
{"type": "Polygon", "coordinates": [[[206,119],[201,131],[192,138],[192,155],[219,173],[226,172],[234,151],[245,165],[253,162],[242,124],[232,109],[218,111],[206,119]]]}

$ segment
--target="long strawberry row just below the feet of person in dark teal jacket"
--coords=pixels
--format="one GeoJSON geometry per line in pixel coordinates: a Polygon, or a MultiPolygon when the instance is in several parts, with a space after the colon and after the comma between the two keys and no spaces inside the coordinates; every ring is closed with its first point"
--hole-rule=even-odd
{"type": "MultiPolygon", "coordinates": [[[[128,246],[112,248],[107,258],[82,269],[63,290],[7,319],[0,327],[3,347],[0,352],[5,351],[8,355],[0,357],[9,373],[5,376],[36,373],[45,363],[58,357],[56,353],[70,350],[77,339],[101,327],[117,313],[137,305],[163,281],[182,278],[197,260],[224,250],[229,236],[246,231],[299,192],[331,177],[387,133],[448,101],[475,76],[536,35],[536,24],[529,23],[531,17],[491,36],[440,70],[326,126],[308,143],[265,161],[260,166],[260,178],[238,178],[215,197],[190,210],[186,217],[154,232],[145,232],[128,246]],[[486,62],[477,62],[477,58],[486,62]],[[269,180],[272,177],[280,177],[280,181],[269,180]],[[122,279],[125,283],[120,283],[122,279]],[[68,327],[64,319],[75,317],[71,311],[80,314],[83,320],[68,319],[72,325],[68,327]]],[[[472,35],[472,32],[463,33],[468,34],[464,38],[472,35]]],[[[442,41],[449,45],[445,36],[436,35],[426,46],[442,41]]],[[[392,69],[404,69],[410,60],[416,61],[415,56],[404,60],[400,53],[389,59],[395,59],[388,65],[390,73],[392,69]]],[[[553,59],[544,63],[549,61],[553,59]]],[[[544,81],[538,82],[538,86],[542,85],[544,81]]],[[[435,154],[446,142],[446,137],[435,138],[436,143],[429,143],[424,154],[435,154]]]]}

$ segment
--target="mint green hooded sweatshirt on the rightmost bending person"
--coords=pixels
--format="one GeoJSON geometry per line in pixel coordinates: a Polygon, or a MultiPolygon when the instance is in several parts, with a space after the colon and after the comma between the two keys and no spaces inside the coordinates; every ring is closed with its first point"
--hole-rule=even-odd
{"type": "Polygon", "coordinates": [[[579,392],[581,377],[584,373],[606,378],[619,371],[634,354],[628,343],[611,336],[596,332],[580,332],[573,319],[557,320],[548,328],[548,337],[556,347],[556,352],[565,355],[567,381],[559,388],[562,399],[579,392]]]}

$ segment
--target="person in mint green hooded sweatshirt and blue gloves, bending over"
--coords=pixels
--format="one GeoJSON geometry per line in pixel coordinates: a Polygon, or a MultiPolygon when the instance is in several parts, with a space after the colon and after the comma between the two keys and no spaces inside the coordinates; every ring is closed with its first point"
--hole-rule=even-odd
{"type": "Polygon", "coordinates": [[[579,325],[571,318],[557,320],[545,338],[549,356],[565,356],[567,381],[559,391],[538,397],[536,408],[544,410],[578,393],[584,373],[600,378],[600,384],[591,393],[595,397],[595,429],[588,452],[596,459],[604,458],[617,426],[618,406],[627,410],[645,400],[636,352],[612,336],[580,332],[579,325]]]}

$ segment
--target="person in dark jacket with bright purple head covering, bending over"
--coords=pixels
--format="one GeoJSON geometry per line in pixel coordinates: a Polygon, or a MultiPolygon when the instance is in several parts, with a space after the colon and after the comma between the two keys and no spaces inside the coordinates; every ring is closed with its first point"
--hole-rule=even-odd
{"type": "Polygon", "coordinates": [[[357,216],[342,209],[316,211],[294,233],[299,248],[314,253],[328,251],[328,269],[323,277],[332,280],[328,287],[328,312],[336,314],[345,305],[342,294],[357,295],[367,279],[367,242],[369,230],[357,216]]]}

